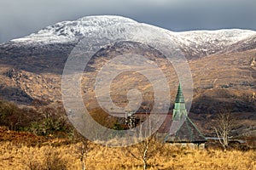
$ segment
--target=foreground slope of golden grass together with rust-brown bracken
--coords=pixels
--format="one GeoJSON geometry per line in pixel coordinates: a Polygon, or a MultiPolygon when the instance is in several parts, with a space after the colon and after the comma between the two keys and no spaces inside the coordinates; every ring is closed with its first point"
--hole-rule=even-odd
{"type": "MultiPolygon", "coordinates": [[[[68,139],[44,139],[31,133],[17,133],[0,127],[1,169],[143,169],[143,161],[129,155],[131,150],[141,156],[140,145],[113,148],[90,143],[81,161],[82,142],[68,139]],[[1,134],[4,133],[5,136],[1,134]],[[12,139],[12,140],[8,140],[12,139]],[[31,147],[33,146],[33,147],[31,147]]],[[[255,164],[254,150],[191,150],[170,144],[153,143],[148,148],[148,169],[248,169],[255,164]]]]}

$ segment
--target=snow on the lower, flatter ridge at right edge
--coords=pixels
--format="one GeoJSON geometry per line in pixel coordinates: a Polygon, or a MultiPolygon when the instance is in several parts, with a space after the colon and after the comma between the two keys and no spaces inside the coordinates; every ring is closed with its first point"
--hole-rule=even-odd
{"type": "MultiPolygon", "coordinates": [[[[246,42],[256,37],[256,31],[240,29],[224,29],[217,31],[183,31],[175,32],[174,41],[180,45],[184,53],[196,55],[216,54],[226,51],[232,44],[246,42]]],[[[250,45],[250,44],[247,44],[250,45]]]]}

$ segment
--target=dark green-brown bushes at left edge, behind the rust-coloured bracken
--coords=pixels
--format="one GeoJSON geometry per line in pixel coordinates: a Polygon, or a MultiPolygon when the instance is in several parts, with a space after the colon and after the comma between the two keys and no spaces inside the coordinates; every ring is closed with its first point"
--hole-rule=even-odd
{"type": "Polygon", "coordinates": [[[35,111],[30,108],[20,109],[3,100],[0,100],[0,126],[44,136],[56,132],[69,133],[72,129],[61,107],[44,107],[41,111],[35,111]]]}

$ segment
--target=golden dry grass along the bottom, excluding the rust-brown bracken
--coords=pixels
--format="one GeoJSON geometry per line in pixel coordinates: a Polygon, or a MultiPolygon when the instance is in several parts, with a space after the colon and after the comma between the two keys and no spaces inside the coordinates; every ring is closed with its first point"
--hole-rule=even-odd
{"type": "MultiPolygon", "coordinates": [[[[53,141],[52,141],[53,142],[53,141]]],[[[55,139],[54,143],[62,142],[55,139]]],[[[189,150],[179,149],[166,144],[148,160],[148,169],[256,169],[256,153],[253,150],[189,150]]],[[[154,148],[155,147],[155,148],[154,148]]],[[[97,144],[89,145],[86,169],[143,169],[143,161],[129,156],[124,148],[104,147],[97,144]]],[[[136,153],[136,147],[130,148],[136,153]]],[[[12,142],[0,143],[0,169],[32,169],[32,165],[45,167],[49,157],[57,156],[59,163],[67,163],[67,169],[81,169],[81,143],[52,146],[27,146],[12,142]]],[[[54,159],[54,158],[53,158],[54,159]]],[[[85,160],[85,159],[84,159],[85,160]]]]}

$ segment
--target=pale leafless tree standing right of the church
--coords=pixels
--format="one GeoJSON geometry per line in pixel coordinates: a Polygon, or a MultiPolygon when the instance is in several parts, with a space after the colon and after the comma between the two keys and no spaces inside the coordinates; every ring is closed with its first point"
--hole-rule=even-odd
{"type": "Polygon", "coordinates": [[[229,145],[230,131],[235,127],[235,124],[235,118],[229,109],[223,109],[218,112],[214,130],[224,150],[226,150],[229,145]]]}

